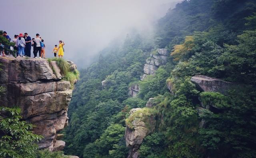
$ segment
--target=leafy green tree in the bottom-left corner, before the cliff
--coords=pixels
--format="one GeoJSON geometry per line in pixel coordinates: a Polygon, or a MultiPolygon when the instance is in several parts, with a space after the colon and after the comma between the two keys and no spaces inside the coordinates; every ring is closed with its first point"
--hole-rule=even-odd
{"type": "Polygon", "coordinates": [[[34,158],[42,136],[33,134],[32,124],[21,120],[19,108],[0,107],[0,156],[34,158]]]}

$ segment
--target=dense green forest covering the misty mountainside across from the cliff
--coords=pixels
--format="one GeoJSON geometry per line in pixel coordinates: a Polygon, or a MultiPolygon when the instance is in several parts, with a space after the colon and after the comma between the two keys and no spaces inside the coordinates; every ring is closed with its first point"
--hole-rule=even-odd
{"type": "Polygon", "coordinates": [[[64,130],[65,154],[80,158],[125,158],[125,120],[149,98],[156,131],[146,136],[141,158],[246,157],[256,154],[256,2],[184,0],[158,20],[154,38],[129,34],[100,52],[80,71],[64,130]],[[140,81],[145,60],[157,48],[168,62],[140,81]],[[200,92],[190,81],[206,75],[234,82],[227,94],[200,92]],[[108,84],[102,87],[102,81],[108,84]],[[166,80],[174,84],[170,93],[166,80]],[[139,84],[137,97],[128,87],[139,84]],[[198,97],[222,109],[198,114],[198,97]],[[201,120],[207,122],[204,128],[201,120]]]}

